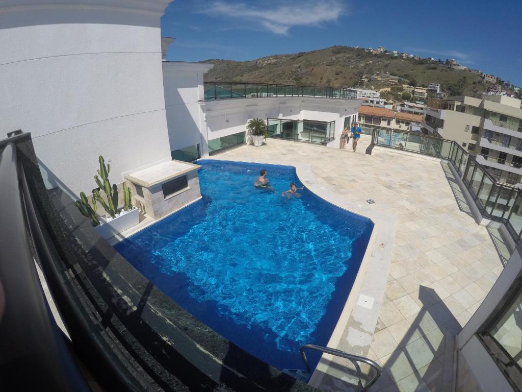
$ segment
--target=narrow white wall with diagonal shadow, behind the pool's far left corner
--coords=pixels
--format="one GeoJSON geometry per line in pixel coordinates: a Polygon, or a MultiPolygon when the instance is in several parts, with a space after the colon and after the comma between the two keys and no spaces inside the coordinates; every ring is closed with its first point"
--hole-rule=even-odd
{"type": "Polygon", "coordinates": [[[205,99],[203,76],[212,67],[211,64],[163,62],[170,151],[206,144],[201,131],[206,128],[205,119],[199,101],[205,99]]]}

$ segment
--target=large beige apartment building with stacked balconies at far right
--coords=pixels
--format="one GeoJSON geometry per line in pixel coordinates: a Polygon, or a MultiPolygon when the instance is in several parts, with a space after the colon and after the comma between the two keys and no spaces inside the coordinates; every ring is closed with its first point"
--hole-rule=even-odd
{"type": "Polygon", "coordinates": [[[454,140],[497,181],[520,185],[522,109],[520,99],[501,95],[429,100],[424,132],[454,140]]]}

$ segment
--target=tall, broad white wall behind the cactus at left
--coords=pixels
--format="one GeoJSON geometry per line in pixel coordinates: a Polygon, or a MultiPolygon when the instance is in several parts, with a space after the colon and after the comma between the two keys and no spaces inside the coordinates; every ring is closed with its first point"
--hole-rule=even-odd
{"type": "Polygon", "coordinates": [[[160,17],[167,0],[0,5],[0,117],[31,132],[49,188],[94,188],[170,158],[160,17]],[[37,4],[37,5],[35,5],[37,4]]]}

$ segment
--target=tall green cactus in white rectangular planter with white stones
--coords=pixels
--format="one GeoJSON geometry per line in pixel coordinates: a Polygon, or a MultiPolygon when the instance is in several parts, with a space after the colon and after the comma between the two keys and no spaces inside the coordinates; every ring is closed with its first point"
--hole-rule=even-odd
{"type": "Polygon", "coordinates": [[[103,238],[110,238],[124,230],[139,223],[139,214],[136,206],[132,205],[131,189],[123,183],[123,207],[118,209],[118,188],[116,184],[111,186],[109,172],[111,165],[105,165],[103,157],[99,157],[100,169],[98,175],[94,176],[94,181],[98,189],[92,191],[92,206],[84,192],[80,193],[80,200],[76,201],[76,206],[82,215],[90,218],[93,226],[103,238]],[[101,194],[103,190],[104,196],[101,194]],[[96,211],[100,204],[105,212],[105,216],[98,216],[96,211]]]}

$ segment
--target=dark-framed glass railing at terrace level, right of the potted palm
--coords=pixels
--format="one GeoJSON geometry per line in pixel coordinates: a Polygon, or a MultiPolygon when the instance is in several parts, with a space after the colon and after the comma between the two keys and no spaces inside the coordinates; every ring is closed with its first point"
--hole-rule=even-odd
{"type": "Polygon", "coordinates": [[[268,137],[274,139],[327,144],[334,140],[335,121],[267,119],[268,137]]]}

